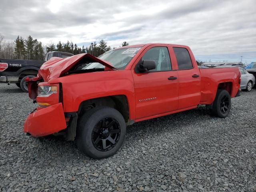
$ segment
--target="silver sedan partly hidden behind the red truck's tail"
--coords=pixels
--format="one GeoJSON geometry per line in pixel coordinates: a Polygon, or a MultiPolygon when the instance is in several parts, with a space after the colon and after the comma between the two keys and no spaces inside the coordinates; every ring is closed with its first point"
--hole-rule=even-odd
{"type": "Polygon", "coordinates": [[[255,84],[255,77],[253,74],[248,73],[243,68],[239,68],[242,74],[242,81],[240,84],[240,89],[245,89],[246,91],[251,91],[255,84]]]}

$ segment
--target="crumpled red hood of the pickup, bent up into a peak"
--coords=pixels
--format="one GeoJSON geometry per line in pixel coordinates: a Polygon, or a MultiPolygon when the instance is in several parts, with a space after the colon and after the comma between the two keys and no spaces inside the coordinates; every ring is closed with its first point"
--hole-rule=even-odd
{"type": "Polygon", "coordinates": [[[110,64],[110,62],[101,60],[100,58],[94,57],[91,54],[83,53],[67,58],[52,57],[50,60],[42,64],[40,70],[38,71],[38,78],[43,78],[44,81],[58,78],[68,72],[68,70],[76,65],[82,58],[88,58],[94,62],[104,65],[105,70],[116,69],[110,64]]]}

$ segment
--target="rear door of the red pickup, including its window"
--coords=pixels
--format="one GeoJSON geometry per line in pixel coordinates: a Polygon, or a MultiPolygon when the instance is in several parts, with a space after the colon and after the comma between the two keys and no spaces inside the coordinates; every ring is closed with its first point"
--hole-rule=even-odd
{"type": "Polygon", "coordinates": [[[173,51],[178,65],[178,109],[197,106],[201,97],[201,77],[196,60],[189,48],[174,46],[173,51]]]}

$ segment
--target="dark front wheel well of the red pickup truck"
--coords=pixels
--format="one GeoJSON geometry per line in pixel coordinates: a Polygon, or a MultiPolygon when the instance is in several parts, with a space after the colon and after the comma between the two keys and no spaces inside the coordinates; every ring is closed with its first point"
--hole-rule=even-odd
{"type": "Polygon", "coordinates": [[[129,106],[125,95],[114,95],[83,101],[79,106],[78,118],[88,110],[98,106],[114,108],[122,114],[125,122],[129,120],[129,106]]]}

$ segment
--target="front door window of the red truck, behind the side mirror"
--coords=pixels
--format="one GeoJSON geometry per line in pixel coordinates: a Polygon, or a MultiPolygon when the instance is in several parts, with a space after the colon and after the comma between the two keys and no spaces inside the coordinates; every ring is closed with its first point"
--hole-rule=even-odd
{"type": "Polygon", "coordinates": [[[170,55],[167,47],[153,47],[148,50],[142,60],[153,60],[156,63],[156,68],[151,71],[170,71],[172,70],[170,55]]]}

